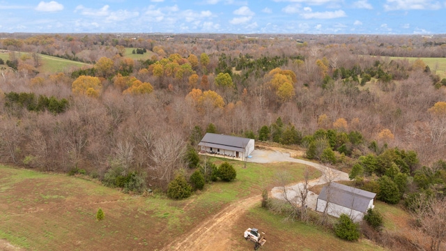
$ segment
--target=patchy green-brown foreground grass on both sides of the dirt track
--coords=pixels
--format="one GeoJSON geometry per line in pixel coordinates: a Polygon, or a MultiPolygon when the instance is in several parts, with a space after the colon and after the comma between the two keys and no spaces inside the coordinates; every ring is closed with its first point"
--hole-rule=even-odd
{"type": "MultiPolygon", "coordinates": [[[[211,159],[216,164],[226,161],[211,159]]],[[[247,163],[243,168],[243,162],[230,162],[237,170],[235,181],[213,183],[181,201],[157,193],[125,195],[95,181],[0,165],[0,238],[28,250],[157,250],[229,203],[272,188],[277,172],[288,172],[293,181],[302,179],[303,166],[297,163],[247,163]],[[105,212],[100,222],[95,220],[98,208],[105,212]]],[[[263,250],[376,250],[362,241],[341,241],[317,227],[284,223],[259,207],[241,219],[237,225],[242,229],[253,220],[268,229],[275,241],[263,250]]],[[[234,250],[252,248],[243,238],[231,245],[234,250]]]]}

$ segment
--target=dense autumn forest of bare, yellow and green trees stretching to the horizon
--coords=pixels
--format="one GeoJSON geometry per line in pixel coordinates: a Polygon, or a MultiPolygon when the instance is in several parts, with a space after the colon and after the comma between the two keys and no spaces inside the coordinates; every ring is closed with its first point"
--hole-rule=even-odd
{"type": "Polygon", "coordinates": [[[206,131],[347,169],[397,149],[415,153],[413,175],[446,155],[444,69],[403,58],[445,57],[443,36],[0,35],[1,162],[98,178],[119,166],[165,189],[206,131]],[[40,73],[43,54],[91,66],[40,73]]]}

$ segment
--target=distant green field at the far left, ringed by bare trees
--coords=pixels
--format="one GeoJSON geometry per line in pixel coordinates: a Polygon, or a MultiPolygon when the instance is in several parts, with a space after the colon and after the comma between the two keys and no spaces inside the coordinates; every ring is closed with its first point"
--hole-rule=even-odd
{"type": "MultiPolygon", "coordinates": [[[[17,57],[20,57],[20,54],[26,54],[26,52],[16,52],[17,57]]],[[[78,61],[72,61],[68,59],[61,59],[56,56],[47,56],[43,54],[39,54],[40,59],[42,60],[42,65],[38,67],[38,71],[40,73],[60,73],[65,70],[71,70],[72,68],[81,68],[82,66],[90,66],[89,63],[82,63],[78,61]]],[[[8,53],[0,53],[0,59],[3,61],[9,59],[8,53]]]]}

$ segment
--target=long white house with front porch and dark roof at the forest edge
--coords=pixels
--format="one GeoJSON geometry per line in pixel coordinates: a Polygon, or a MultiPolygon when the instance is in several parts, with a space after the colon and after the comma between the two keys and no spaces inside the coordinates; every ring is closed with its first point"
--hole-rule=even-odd
{"type": "Polygon", "coordinates": [[[206,133],[201,142],[201,151],[245,160],[254,151],[254,139],[206,133]]]}

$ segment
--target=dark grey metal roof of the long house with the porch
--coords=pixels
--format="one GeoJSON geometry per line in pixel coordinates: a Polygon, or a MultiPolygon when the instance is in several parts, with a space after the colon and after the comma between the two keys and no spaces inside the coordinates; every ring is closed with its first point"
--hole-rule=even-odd
{"type": "Polygon", "coordinates": [[[207,132],[198,145],[231,151],[243,151],[249,143],[249,140],[251,139],[207,132]]]}

